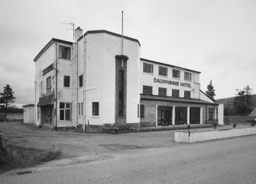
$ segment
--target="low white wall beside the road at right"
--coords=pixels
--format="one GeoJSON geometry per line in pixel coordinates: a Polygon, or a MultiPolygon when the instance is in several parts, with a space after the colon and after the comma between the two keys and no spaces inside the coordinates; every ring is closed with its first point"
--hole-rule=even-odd
{"type": "Polygon", "coordinates": [[[192,143],[198,141],[209,141],[221,138],[233,138],[244,135],[255,135],[256,128],[228,128],[228,129],[212,129],[212,130],[198,130],[198,131],[175,131],[174,141],[192,143]]]}

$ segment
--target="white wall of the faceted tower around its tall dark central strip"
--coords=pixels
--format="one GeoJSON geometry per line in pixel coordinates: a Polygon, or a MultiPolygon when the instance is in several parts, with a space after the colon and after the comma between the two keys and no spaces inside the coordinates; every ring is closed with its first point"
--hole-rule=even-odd
{"type": "MultiPolygon", "coordinates": [[[[115,123],[115,56],[121,55],[121,38],[107,33],[86,35],[86,124],[115,123]],[[92,102],[99,102],[99,116],[92,116],[92,102]]],[[[127,123],[139,122],[137,106],[138,43],[124,39],[127,61],[127,123]]]]}

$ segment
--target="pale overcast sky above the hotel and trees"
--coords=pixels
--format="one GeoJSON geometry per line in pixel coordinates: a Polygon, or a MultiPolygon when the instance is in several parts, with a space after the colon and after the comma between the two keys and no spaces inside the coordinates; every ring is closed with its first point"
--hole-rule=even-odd
{"type": "Polygon", "coordinates": [[[69,25],[121,33],[141,43],[141,58],[201,71],[215,99],[256,92],[254,0],[4,0],[0,6],[0,91],[10,84],[16,103],[34,103],[34,57],[51,38],[73,41],[69,25]]]}

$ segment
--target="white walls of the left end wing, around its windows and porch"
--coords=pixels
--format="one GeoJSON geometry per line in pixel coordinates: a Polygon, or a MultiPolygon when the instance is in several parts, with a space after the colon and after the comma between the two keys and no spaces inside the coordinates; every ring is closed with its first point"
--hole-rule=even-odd
{"type": "MultiPolygon", "coordinates": [[[[73,62],[74,56],[76,56],[74,52],[73,46],[65,43],[57,43],[57,50],[55,43],[51,44],[49,48],[47,48],[44,53],[37,59],[35,62],[35,81],[36,81],[36,97],[35,97],[35,108],[36,108],[36,123],[35,125],[41,125],[41,117],[37,117],[37,103],[42,94],[46,94],[46,80],[49,76],[52,77],[52,91],[56,91],[55,87],[55,71],[50,71],[46,75],[42,75],[42,72],[45,68],[47,68],[50,64],[56,64],[56,52],[59,53],[59,45],[61,46],[69,46],[71,49],[70,60],[69,59],[59,59],[57,58],[57,68],[58,68],[58,80],[57,80],[57,126],[74,126],[76,125],[76,63],[73,62]],[[63,76],[70,76],[70,87],[63,87],[63,76]],[[41,81],[43,86],[41,87],[41,81]],[[60,102],[64,103],[72,103],[71,108],[71,121],[61,122],[60,119],[60,102]]],[[[58,54],[57,54],[58,56],[58,54]]],[[[55,125],[55,104],[53,107],[53,123],[55,125]]],[[[39,113],[41,114],[41,112],[39,113]]],[[[41,116],[41,115],[40,115],[41,116]]]]}

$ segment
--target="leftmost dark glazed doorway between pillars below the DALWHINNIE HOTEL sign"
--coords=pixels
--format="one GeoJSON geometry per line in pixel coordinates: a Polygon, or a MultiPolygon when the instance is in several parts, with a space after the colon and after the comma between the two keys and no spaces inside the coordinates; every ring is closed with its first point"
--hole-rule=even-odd
{"type": "Polygon", "coordinates": [[[157,107],[157,125],[167,126],[172,125],[173,117],[172,106],[158,106],[157,107]]]}

